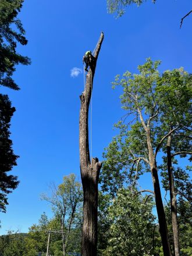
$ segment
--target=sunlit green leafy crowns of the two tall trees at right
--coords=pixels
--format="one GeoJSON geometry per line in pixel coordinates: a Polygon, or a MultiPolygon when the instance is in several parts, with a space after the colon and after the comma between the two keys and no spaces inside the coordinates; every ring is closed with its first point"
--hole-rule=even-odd
{"type": "Polygon", "coordinates": [[[138,74],[127,71],[122,77],[116,76],[112,83],[113,88],[123,89],[120,99],[126,115],[115,125],[119,134],[104,152],[100,177],[104,191],[115,193],[125,183],[135,186],[138,177],[150,170],[147,127],[154,151],[158,147],[165,151],[165,136],[170,127],[176,129],[173,150],[189,149],[192,77],[183,68],[166,70],[161,75],[160,63],[148,58],[144,65],[138,66],[138,74]]]}

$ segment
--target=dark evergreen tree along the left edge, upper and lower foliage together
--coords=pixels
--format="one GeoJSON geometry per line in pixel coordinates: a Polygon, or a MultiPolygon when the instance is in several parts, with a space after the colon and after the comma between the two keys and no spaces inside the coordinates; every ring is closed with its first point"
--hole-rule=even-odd
{"type": "MultiPolygon", "coordinates": [[[[17,14],[22,8],[23,0],[1,0],[0,2],[0,86],[19,90],[12,79],[16,65],[29,65],[30,59],[16,52],[17,43],[26,45],[25,31],[17,14]]],[[[17,177],[7,175],[16,165],[17,156],[13,154],[10,140],[10,118],[15,112],[7,95],[0,94],[0,211],[6,211],[7,194],[18,185],[17,177]]]]}

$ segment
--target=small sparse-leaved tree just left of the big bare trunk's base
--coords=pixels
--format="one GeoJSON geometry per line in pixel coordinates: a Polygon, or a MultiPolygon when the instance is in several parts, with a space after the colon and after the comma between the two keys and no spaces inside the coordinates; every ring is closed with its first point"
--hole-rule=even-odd
{"type": "Polygon", "coordinates": [[[42,194],[42,199],[51,203],[56,218],[59,219],[62,235],[63,256],[69,251],[70,234],[73,229],[79,229],[82,223],[83,191],[76,176],[71,174],[63,177],[63,183],[50,187],[51,196],[42,194]]]}

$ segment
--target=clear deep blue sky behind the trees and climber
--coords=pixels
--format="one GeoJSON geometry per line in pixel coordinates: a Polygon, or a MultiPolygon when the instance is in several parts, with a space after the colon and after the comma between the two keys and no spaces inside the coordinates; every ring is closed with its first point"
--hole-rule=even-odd
{"type": "MultiPolygon", "coordinates": [[[[112,90],[111,81],[125,70],[137,72],[137,66],[149,56],[160,59],[159,70],[183,66],[191,68],[191,24],[187,17],[182,29],[180,19],[191,10],[191,0],[150,0],[137,8],[130,6],[120,19],[106,12],[106,0],[26,0],[19,17],[29,44],[18,47],[31,58],[30,66],[18,66],[14,78],[20,91],[1,87],[16,107],[12,118],[12,140],[20,158],[13,174],[19,187],[9,195],[7,213],[0,213],[2,228],[28,228],[37,223],[49,205],[40,200],[51,182],[79,169],[79,95],[83,91],[83,73],[70,76],[74,67],[83,69],[82,56],[95,48],[99,34],[104,42],[99,54],[93,90],[93,156],[111,141],[112,129],[123,114],[120,88],[112,90]]],[[[141,185],[151,187],[150,175],[141,185]]]]}

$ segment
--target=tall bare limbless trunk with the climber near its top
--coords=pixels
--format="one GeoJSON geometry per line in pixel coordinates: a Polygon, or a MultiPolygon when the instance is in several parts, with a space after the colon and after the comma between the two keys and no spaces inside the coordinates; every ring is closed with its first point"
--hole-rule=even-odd
{"type": "Polygon", "coordinates": [[[103,39],[104,34],[101,33],[95,48],[94,59],[91,62],[90,70],[87,74],[86,89],[80,96],[79,147],[81,180],[84,192],[82,256],[97,255],[98,177],[102,164],[98,161],[98,158],[93,158],[92,161],[90,161],[88,146],[88,108],[93,90],[95,67],[103,39]]]}

